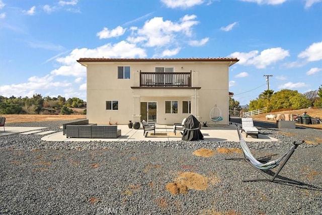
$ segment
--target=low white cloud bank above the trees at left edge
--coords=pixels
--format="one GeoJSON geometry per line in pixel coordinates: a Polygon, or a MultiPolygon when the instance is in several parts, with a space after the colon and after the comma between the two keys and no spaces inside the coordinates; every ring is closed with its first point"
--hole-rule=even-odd
{"type": "Polygon", "coordinates": [[[12,84],[1,86],[1,95],[5,97],[25,95],[32,97],[38,90],[48,90],[52,88],[61,88],[71,86],[68,82],[55,82],[53,76],[44,77],[33,76],[27,83],[12,84]]]}

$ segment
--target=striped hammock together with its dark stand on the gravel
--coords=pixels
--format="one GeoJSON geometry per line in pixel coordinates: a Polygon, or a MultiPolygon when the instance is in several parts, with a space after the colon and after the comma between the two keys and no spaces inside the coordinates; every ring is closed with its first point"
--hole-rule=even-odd
{"type": "Polygon", "coordinates": [[[296,181],[291,181],[291,180],[286,180],[286,179],[276,179],[280,171],[283,169],[284,165],[287,163],[287,161],[290,159],[292,154],[294,153],[295,149],[298,147],[298,145],[303,144],[304,140],[301,141],[300,144],[296,144],[296,141],[293,142],[293,146],[287,150],[280,158],[270,161],[268,163],[261,163],[258,161],[251,153],[250,149],[248,148],[245,139],[241,135],[241,132],[239,132],[239,128],[236,124],[237,127],[237,132],[238,132],[238,137],[239,137],[239,142],[241,149],[243,150],[244,153],[244,159],[226,159],[226,160],[246,160],[249,164],[251,164],[257,171],[259,171],[265,178],[259,178],[259,179],[251,179],[251,180],[243,180],[243,182],[248,182],[248,181],[270,181],[270,182],[287,182],[291,184],[297,184],[301,185],[300,183],[296,181]],[[273,169],[277,166],[279,166],[280,162],[284,159],[282,162],[280,168],[276,171],[276,173],[270,177],[268,174],[265,174],[263,170],[270,170],[273,169]]]}

